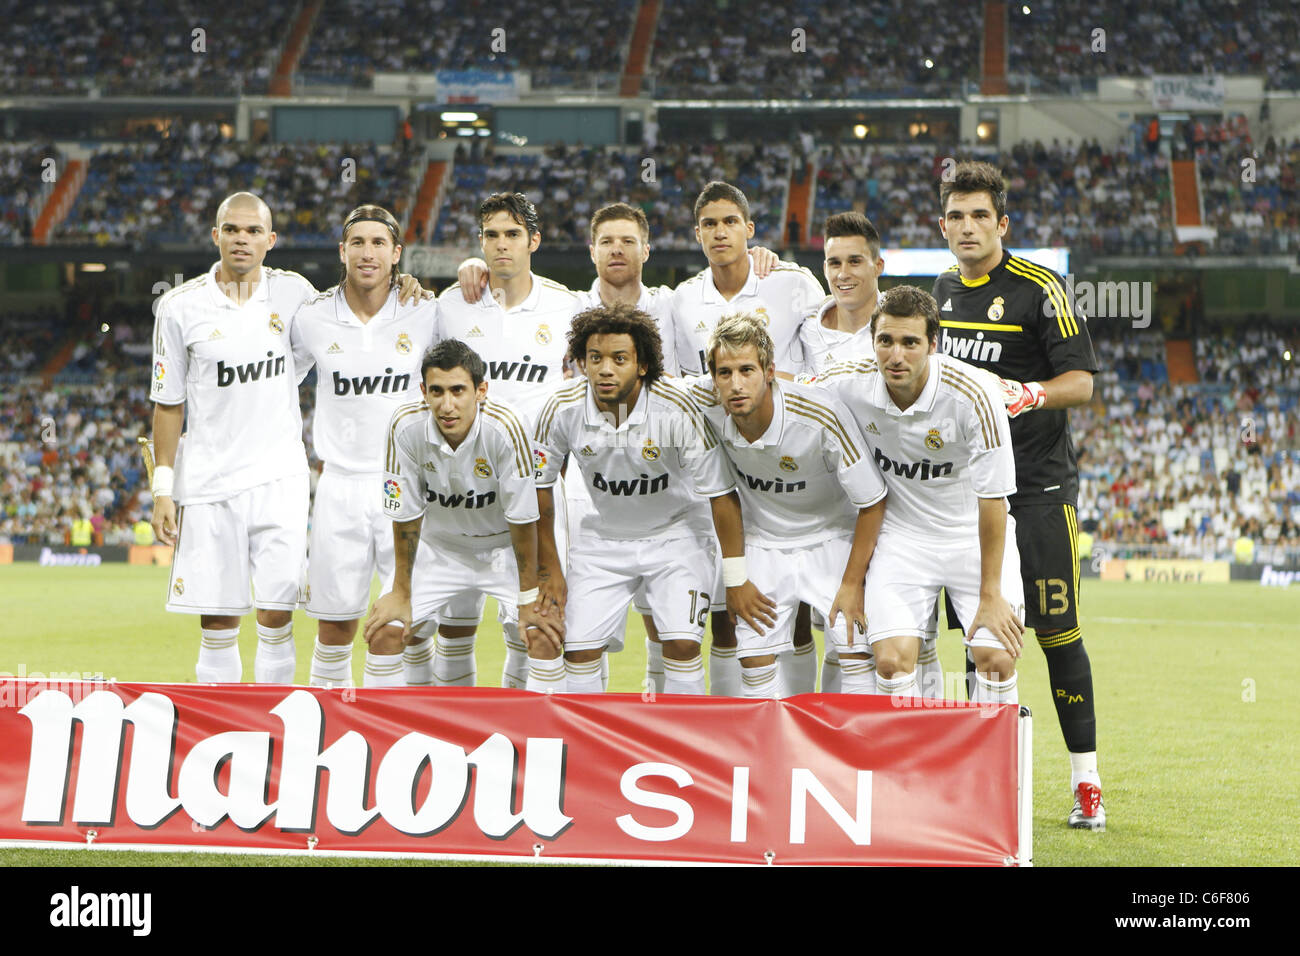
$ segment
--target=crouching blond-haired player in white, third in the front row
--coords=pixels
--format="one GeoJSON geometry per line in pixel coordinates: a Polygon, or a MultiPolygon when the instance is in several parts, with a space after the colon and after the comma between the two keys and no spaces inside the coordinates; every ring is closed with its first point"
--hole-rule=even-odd
{"type": "Polygon", "coordinates": [[[712,377],[690,386],[738,476],[750,579],[776,602],[766,633],[736,626],[746,697],[779,696],[776,656],[793,649],[801,601],[864,631],[863,578],[885,510],[853,416],[822,389],[776,381],[772,351],[760,317],[725,316],[708,339],[712,377]]]}

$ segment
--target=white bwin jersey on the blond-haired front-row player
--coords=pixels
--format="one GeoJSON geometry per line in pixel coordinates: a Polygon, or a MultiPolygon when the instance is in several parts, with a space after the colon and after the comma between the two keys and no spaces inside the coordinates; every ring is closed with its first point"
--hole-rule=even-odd
{"type": "Polygon", "coordinates": [[[774,381],[772,421],[753,444],[723,408],[712,378],[690,380],[688,392],[736,470],[746,542],[803,548],[852,537],[858,509],[885,497],[853,415],[826,390],[774,381]]]}

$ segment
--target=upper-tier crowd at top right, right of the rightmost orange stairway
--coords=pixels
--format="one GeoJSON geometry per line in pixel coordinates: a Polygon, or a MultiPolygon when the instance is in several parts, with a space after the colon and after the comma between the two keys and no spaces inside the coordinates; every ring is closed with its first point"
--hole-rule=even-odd
{"type": "Polygon", "coordinates": [[[1300,90],[1292,0],[1071,0],[1009,4],[1011,73],[1037,77],[1264,74],[1300,90]],[[1097,31],[1101,31],[1100,34],[1097,31]]]}

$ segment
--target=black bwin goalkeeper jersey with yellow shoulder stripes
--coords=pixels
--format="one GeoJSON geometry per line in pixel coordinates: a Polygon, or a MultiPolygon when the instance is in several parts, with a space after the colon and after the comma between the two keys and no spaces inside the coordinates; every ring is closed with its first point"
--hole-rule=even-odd
{"type": "MultiPolygon", "coordinates": [[[[1002,261],[974,281],[952,267],[935,280],[935,300],[946,355],[1019,382],[1097,371],[1086,316],[1074,311],[1052,269],[1004,251],[1002,261]]],[[[1076,503],[1079,462],[1065,408],[1011,419],[1011,444],[1013,505],[1076,503]]]]}

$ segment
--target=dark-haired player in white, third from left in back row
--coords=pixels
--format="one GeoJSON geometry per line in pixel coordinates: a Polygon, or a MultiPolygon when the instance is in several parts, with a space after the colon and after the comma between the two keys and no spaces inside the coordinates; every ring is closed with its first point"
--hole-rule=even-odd
{"type": "MultiPolygon", "coordinates": [[[[577,304],[572,291],[532,271],[532,255],[541,241],[537,207],[524,194],[488,196],[478,206],[478,243],[491,294],[467,302],[458,282],[438,298],[442,336],[459,338],[482,355],[493,395],[510,402],[529,429],[564,377],[566,334],[577,304]]],[[[481,605],[454,602],[447,607],[434,658],[439,683],[473,683],[465,662],[473,667],[481,615],[481,605]]],[[[506,628],[502,687],[523,688],[526,682],[528,648],[511,626],[506,628]]]]}

